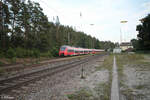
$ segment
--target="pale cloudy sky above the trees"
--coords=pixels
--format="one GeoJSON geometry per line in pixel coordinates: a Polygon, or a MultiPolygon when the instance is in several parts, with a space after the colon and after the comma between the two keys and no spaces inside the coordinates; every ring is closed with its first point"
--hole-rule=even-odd
{"type": "Polygon", "coordinates": [[[150,13],[150,0],[33,0],[39,2],[49,21],[84,31],[99,40],[113,42],[136,38],[139,19],[150,13]],[[80,13],[82,16],[80,16],[80,13]],[[120,21],[128,21],[120,23],[120,21]],[[91,25],[93,24],[93,25],[91,25]]]}

